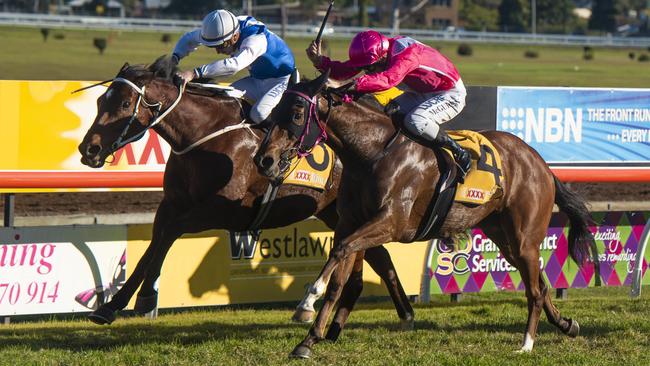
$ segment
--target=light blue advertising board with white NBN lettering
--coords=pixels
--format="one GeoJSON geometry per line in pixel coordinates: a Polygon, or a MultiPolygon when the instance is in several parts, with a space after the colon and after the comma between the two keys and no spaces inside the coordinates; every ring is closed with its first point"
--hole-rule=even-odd
{"type": "Polygon", "coordinates": [[[551,166],[650,164],[650,90],[499,87],[497,124],[551,166]]]}

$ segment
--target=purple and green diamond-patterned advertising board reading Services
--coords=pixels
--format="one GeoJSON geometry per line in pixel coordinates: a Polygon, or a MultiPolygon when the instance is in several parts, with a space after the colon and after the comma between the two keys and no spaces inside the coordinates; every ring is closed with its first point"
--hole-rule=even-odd
{"type": "MultiPolygon", "coordinates": [[[[641,257],[642,233],[650,212],[601,212],[592,214],[597,226],[590,227],[598,248],[600,283],[630,285],[637,261],[642,261],[642,284],[650,253],[641,257]]],[[[578,266],[568,254],[568,221],[554,214],[547,235],[540,243],[539,265],[552,288],[583,288],[595,284],[593,262],[578,266]]],[[[519,272],[501,256],[497,245],[480,229],[470,231],[468,240],[449,246],[438,241],[428,256],[425,276],[431,294],[523,290],[519,272]]]]}

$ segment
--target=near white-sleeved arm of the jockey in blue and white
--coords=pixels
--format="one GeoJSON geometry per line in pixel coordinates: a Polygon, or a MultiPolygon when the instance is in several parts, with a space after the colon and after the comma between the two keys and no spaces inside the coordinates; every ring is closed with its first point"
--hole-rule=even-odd
{"type": "Polygon", "coordinates": [[[256,34],[242,41],[239,50],[231,57],[210,64],[201,65],[194,69],[198,78],[216,78],[234,75],[247,68],[258,57],[266,52],[268,43],[264,34],[256,34]]]}

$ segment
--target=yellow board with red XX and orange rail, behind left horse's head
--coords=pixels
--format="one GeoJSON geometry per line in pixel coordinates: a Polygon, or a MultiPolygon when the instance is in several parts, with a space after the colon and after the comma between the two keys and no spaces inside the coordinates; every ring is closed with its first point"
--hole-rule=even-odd
{"type": "Polygon", "coordinates": [[[88,81],[0,81],[0,192],[49,188],[98,190],[159,187],[169,145],[154,132],[118,151],[112,163],[91,169],[77,146],[97,114],[105,87],[76,94],[88,81]],[[128,182],[120,184],[119,182],[128,182]]]}

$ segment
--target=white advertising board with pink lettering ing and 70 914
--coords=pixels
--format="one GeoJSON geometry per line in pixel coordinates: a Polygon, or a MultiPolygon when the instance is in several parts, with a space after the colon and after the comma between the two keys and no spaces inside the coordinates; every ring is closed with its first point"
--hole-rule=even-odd
{"type": "Polygon", "coordinates": [[[83,312],[126,280],[125,226],[0,230],[0,316],[83,312]]]}

